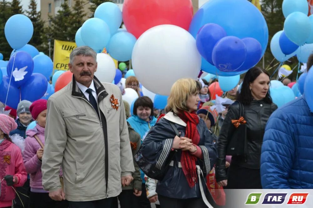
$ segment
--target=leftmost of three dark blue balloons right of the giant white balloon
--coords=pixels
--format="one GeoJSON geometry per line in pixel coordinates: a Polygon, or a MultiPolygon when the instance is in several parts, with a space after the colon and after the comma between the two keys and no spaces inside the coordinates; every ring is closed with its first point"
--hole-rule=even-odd
{"type": "Polygon", "coordinates": [[[210,64],[214,65],[212,60],[212,51],[215,44],[226,36],[227,34],[223,27],[214,23],[205,24],[199,30],[196,37],[197,49],[201,56],[210,64]]]}

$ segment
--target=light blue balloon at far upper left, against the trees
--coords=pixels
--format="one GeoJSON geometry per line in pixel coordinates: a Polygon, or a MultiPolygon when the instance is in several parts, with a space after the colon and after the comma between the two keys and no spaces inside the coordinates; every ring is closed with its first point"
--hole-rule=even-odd
{"type": "Polygon", "coordinates": [[[4,26],[5,37],[13,49],[25,46],[32,38],[33,31],[32,21],[23,14],[13,15],[4,26]]]}

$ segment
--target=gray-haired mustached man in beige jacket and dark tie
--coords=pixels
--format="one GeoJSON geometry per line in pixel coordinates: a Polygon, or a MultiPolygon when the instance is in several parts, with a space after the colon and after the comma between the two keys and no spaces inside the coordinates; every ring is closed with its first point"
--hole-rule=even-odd
{"type": "Polygon", "coordinates": [[[69,69],[73,81],[48,100],[43,186],[70,208],[110,207],[135,171],[121,91],[94,76],[96,53],[87,46],[71,52],[69,69]]]}

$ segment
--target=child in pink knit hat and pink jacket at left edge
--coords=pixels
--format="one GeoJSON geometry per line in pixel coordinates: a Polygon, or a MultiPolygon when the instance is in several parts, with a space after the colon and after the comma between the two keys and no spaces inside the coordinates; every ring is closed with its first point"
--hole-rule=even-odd
{"type": "Polygon", "coordinates": [[[0,207],[11,208],[15,198],[14,187],[23,186],[27,180],[22,152],[8,136],[17,128],[11,117],[0,114],[0,207]]]}

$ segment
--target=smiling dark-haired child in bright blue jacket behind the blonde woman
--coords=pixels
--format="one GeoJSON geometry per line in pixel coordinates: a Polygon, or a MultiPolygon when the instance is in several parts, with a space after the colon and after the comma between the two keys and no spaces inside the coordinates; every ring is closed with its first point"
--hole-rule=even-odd
{"type": "MultiPolygon", "coordinates": [[[[156,118],[153,116],[153,102],[147,96],[139,97],[134,103],[133,115],[127,119],[131,127],[140,134],[141,143],[144,135],[156,124],[156,118]]],[[[145,174],[140,170],[142,179],[142,190],[146,190],[145,174]]],[[[146,191],[142,191],[139,198],[140,208],[151,208],[147,199],[146,191]]]]}

